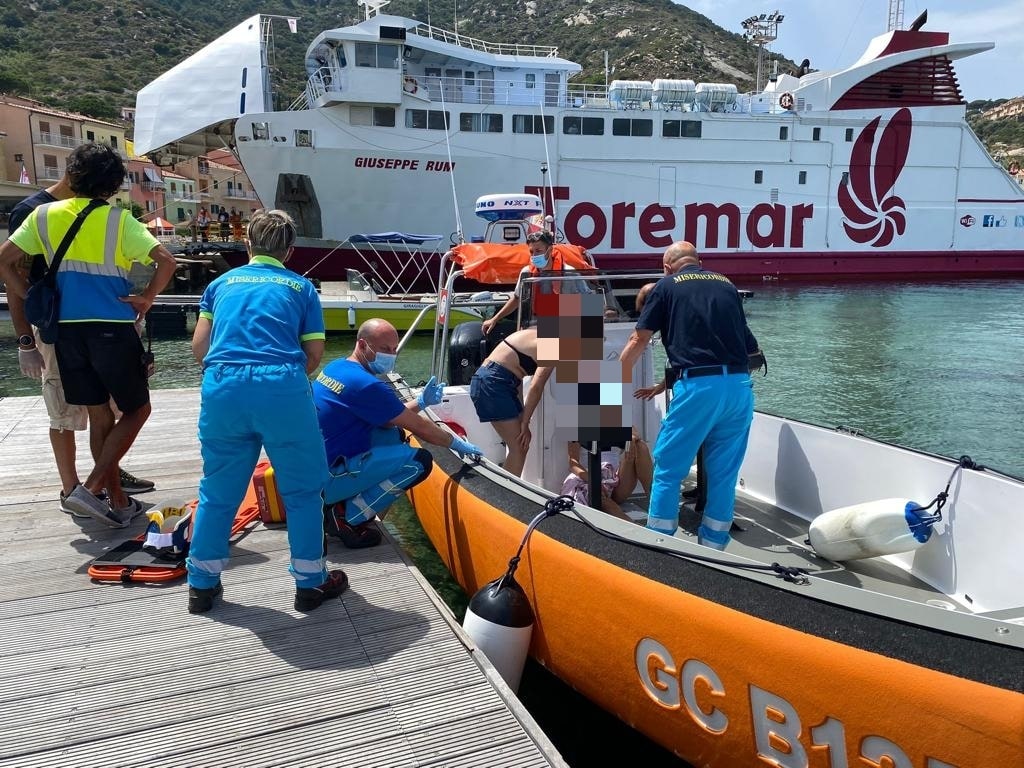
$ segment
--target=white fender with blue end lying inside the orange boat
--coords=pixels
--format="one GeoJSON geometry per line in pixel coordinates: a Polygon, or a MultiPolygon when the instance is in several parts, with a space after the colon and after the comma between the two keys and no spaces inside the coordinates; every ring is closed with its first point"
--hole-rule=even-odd
{"type": "Polygon", "coordinates": [[[814,551],[829,560],[909,552],[924,546],[941,516],[905,499],[881,499],[823,512],[811,522],[814,551]]]}

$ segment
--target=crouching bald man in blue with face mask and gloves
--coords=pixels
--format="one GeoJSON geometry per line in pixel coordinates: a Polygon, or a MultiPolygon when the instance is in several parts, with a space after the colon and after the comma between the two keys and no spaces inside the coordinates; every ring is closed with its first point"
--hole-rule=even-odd
{"type": "Polygon", "coordinates": [[[481,453],[419,416],[427,406],[441,401],[444,384],[438,384],[435,377],[415,400],[404,403],[389,384],[377,378],[391,372],[397,349],[394,326],[369,319],[359,326],[352,353],[328,365],[313,382],[313,401],[331,466],[324,489],[325,526],[346,547],[379,544],[381,532],[371,521],[430,474],[430,453],[404,442],[401,430],[461,456],[481,453]]]}

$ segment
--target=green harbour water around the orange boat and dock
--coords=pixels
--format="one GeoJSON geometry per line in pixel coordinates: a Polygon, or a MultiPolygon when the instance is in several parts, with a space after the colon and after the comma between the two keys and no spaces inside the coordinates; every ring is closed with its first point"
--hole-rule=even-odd
{"type": "MultiPolygon", "coordinates": [[[[755,376],[758,409],[1024,476],[1024,282],[746,288],[755,292],[748,322],[768,357],[768,376],[755,376]]],[[[325,360],[352,344],[351,335],[331,336],[325,360]]],[[[399,356],[411,382],[428,376],[431,347],[418,336],[399,356]]],[[[156,340],[154,351],[155,388],[199,386],[187,338],[156,340]]],[[[664,365],[660,347],[656,359],[664,365]]],[[[38,393],[18,373],[11,324],[0,321],[0,396],[38,393]]],[[[461,616],[466,596],[409,505],[395,505],[387,525],[461,616]]],[[[638,764],[682,765],[537,665],[520,697],[574,768],[604,764],[610,749],[638,764]]]]}

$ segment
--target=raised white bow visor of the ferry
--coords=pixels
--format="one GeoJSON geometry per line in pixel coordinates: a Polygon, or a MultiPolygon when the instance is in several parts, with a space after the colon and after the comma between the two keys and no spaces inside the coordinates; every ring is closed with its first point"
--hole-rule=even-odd
{"type": "Polygon", "coordinates": [[[229,144],[234,120],[271,109],[260,15],[238,27],[138,92],[135,152],[170,165],[229,144]]]}

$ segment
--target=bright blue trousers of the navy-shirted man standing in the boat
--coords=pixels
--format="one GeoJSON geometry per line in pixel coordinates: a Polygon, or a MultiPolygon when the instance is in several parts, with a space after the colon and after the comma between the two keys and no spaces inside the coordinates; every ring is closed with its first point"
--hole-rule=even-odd
{"type": "Polygon", "coordinates": [[[736,501],[736,478],[754,420],[754,384],[748,374],[680,378],[672,396],[654,444],[647,527],[676,531],[679,488],[703,443],[708,504],[697,537],[700,544],[725,549],[736,501]]]}

